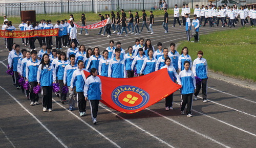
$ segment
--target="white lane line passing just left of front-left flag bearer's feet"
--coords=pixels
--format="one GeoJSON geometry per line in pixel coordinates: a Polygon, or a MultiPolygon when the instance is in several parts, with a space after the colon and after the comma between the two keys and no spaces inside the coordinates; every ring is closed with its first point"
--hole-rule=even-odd
{"type": "Polygon", "coordinates": [[[102,136],[103,138],[105,138],[106,140],[108,140],[109,142],[111,142],[113,145],[115,145],[116,147],[121,147],[119,146],[117,143],[115,143],[114,141],[110,140],[108,137],[106,137],[105,135],[103,135],[102,133],[100,133],[98,130],[96,130],[94,127],[92,127],[91,125],[89,125],[86,121],[82,120],[79,116],[77,116],[76,114],[74,114],[73,112],[71,112],[70,110],[68,110],[66,107],[60,105],[58,102],[56,102],[53,98],[52,100],[59,105],[61,108],[65,109],[66,111],[68,111],[70,114],[72,114],[73,116],[75,116],[78,120],[80,120],[81,122],[83,122],[85,125],[87,125],[89,128],[91,128],[92,130],[94,130],[95,132],[97,132],[100,136],[102,136]]]}

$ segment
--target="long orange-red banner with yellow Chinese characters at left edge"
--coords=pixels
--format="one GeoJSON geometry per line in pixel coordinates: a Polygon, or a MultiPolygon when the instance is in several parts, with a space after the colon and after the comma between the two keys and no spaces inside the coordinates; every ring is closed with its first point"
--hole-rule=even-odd
{"type": "Polygon", "coordinates": [[[57,36],[58,29],[45,29],[45,30],[27,30],[27,31],[7,31],[0,30],[0,37],[4,38],[30,38],[30,37],[46,37],[57,36]]]}

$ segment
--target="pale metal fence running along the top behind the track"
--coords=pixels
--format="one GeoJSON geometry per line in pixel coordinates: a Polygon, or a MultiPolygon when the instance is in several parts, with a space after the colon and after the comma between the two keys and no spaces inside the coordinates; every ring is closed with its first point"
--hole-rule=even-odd
{"type": "MultiPolygon", "coordinates": [[[[128,10],[158,10],[160,0],[97,0],[98,12],[120,11],[120,9],[128,10]]],[[[227,0],[213,1],[213,4],[221,4],[227,0]]],[[[239,1],[241,5],[256,3],[256,0],[239,1]]],[[[194,8],[196,4],[208,5],[209,0],[166,0],[168,9],[174,8],[177,4],[179,8],[183,4],[188,4],[190,8],[194,8]]],[[[78,0],[78,1],[47,1],[27,3],[7,3],[0,4],[0,14],[8,16],[20,16],[20,11],[35,10],[36,14],[70,14],[80,12],[95,12],[95,0],[78,0]]]]}

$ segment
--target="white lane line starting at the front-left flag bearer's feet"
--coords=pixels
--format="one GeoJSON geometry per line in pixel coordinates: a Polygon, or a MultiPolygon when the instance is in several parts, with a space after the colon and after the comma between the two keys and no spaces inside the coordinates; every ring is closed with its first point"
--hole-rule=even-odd
{"type": "Polygon", "coordinates": [[[103,109],[105,109],[105,110],[111,112],[111,113],[114,114],[115,116],[118,116],[119,118],[123,119],[124,121],[128,122],[128,123],[131,124],[132,126],[138,128],[138,129],[141,130],[142,132],[145,132],[146,134],[150,135],[151,137],[157,139],[157,140],[160,141],[161,143],[164,143],[164,144],[166,144],[166,145],[169,146],[169,147],[174,147],[173,145],[170,145],[169,143],[167,143],[167,142],[163,141],[162,139],[158,138],[157,136],[154,136],[153,134],[151,134],[151,133],[147,132],[146,130],[140,128],[139,126],[135,125],[135,124],[134,124],[133,122],[131,122],[130,120],[127,120],[127,119],[125,119],[125,118],[119,116],[117,113],[114,113],[113,111],[109,110],[108,108],[105,108],[105,107],[102,106],[102,105],[99,105],[99,106],[102,107],[103,109]]]}

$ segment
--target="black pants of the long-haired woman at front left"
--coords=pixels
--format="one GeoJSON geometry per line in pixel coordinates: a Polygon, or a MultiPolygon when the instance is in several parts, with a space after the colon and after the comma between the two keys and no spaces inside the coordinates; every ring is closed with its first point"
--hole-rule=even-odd
{"type": "Polygon", "coordinates": [[[52,108],[52,86],[42,87],[42,106],[47,109],[52,108]]]}

